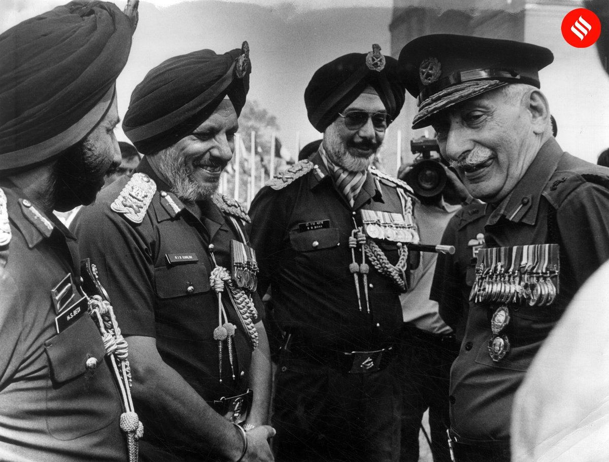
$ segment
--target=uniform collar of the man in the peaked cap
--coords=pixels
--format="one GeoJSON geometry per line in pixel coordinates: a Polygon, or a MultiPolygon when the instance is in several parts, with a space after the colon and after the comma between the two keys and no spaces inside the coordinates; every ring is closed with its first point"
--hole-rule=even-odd
{"type": "Polygon", "coordinates": [[[499,221],[499,218],[505,216],[513,222],[521,221],[534,225],[541,193],[556,170],[561,156],[563,151],[556,140],[553,137],[547,140],[527,168],[523,178],[491,213],[487,224],[493,225],[499,221]]]}

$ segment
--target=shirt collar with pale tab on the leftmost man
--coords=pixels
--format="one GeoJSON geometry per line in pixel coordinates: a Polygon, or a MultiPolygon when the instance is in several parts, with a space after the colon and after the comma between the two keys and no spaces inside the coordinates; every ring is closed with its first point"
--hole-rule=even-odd
{"type": "MultiPolygon", "coordinates": [[[[44,239],[51,237],[55,224],[43,212],[40,212],[27,196],[10,182],[2,182],[7,196],[7,212],[13,225],[19,229],[32,249],[44,239]]],[[[71,233],[69,233],[70,236],[71,233]]]]}

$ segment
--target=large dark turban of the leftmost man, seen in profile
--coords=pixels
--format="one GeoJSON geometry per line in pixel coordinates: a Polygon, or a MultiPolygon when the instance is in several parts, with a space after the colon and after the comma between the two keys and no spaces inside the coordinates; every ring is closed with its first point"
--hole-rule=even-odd
{"type": "Polygon", "coordinates": [[[108,2],[74,1],[0,35],[0,170],[51,159],[105,116],[132,24],[108,2]]]}

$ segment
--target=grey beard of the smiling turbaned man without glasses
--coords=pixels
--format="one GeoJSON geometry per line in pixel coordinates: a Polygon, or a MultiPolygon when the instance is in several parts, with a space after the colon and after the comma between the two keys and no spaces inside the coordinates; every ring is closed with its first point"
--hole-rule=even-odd
{"type": "Polygon", "coordinates": [[[188,171],[181,157],[175,153],[173,147],[160,151],[158,168],[165,176],[171,186],[171,192],[181,201],[195,202],[210,198],[216,193],[219,183],[216,185],[202,185],[192,180],[191,172],[188,171]]]}

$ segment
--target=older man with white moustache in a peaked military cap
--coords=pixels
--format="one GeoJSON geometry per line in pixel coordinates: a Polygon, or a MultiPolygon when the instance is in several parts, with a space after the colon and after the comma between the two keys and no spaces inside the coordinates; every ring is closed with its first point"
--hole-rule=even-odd
{"type": "Polygon", "coordinates": [[[400,53],[417,98],[413,126],[435,129],[471,195],[488,202],[482,266],[451,370],[459,461],[510,460],[515,390],[569,300],[609,258],[609,176],[552,137],[538,77],[552,60],[544,47],[459,35],[422,36],[400,53]]]}

